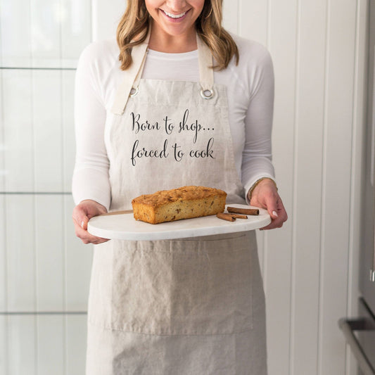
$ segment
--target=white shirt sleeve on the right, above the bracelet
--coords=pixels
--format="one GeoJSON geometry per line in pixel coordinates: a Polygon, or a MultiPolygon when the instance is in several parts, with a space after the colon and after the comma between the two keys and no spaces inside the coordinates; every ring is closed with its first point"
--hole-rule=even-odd
{"type": "Polygon", "coordinates": [[[257,52],[255,67],[251,67],[248,73],[250,99],[245,118],[241,166],[247,202],[248,191],[258,179],[269,177],[275,181],[272,165],[274,70],[269,52],[264,47],[257,52]]]}

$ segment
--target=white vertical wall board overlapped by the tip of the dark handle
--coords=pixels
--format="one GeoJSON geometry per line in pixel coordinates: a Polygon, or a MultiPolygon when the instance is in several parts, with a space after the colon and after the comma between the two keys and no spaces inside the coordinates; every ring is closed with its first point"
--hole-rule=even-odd
{"type": "Polygon", "coordinates": [[[347,310],[349,203],[355,68],[354,1],[330,2],[319,374],[345,373],[345,341],[334,326],[347,310]],[[345,42],[343,42],[345,41],[345,42]],[[337,220],[337,217],[340,220],[337,220]],[[333,277],[334,275],[334,277],[333,277]],[[334,294],[335,298],[332,298],[334,294]]]}

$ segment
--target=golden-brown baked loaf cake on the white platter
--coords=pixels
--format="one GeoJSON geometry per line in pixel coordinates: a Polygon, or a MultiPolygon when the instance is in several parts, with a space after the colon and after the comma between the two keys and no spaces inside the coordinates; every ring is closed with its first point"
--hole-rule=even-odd
{"type": "Polygon", "coordinates": [[[224,212],[227,193],[205,186],[183,186],[134,198],[134,219],[151,224],[224,212]]]}

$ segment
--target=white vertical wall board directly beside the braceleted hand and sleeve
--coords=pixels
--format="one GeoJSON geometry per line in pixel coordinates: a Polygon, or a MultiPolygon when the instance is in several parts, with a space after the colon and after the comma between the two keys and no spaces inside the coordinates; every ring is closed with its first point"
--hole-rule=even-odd
{"type": "MultiPolygon", "coordinates": [[[[267,232],[265,291],[269,374],[290,374],[293,164],[296,82],[297,1],[269,2],[269,50],[274,61],[275,104],[272,147],[279,193],[290,219],[284,228],[267,232]],[[284,20],[280,23],[278,20],[284,20]]],[[[293,315],[292,315],[293,319],[293,315]]]]}

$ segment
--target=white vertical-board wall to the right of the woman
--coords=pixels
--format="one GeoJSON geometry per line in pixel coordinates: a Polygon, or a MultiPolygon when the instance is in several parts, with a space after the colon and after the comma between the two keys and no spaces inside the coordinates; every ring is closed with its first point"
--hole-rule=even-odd
{"type": "Polygon", "coordinates": [[[355,314],[367,1],[226,3],[267,45],[274,165],[290,219],[263,234],[269,374],[355,374],[338,329],[355,314]]]}

